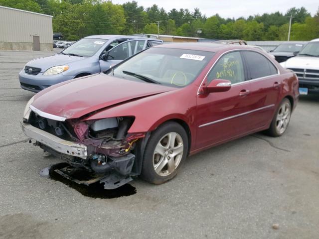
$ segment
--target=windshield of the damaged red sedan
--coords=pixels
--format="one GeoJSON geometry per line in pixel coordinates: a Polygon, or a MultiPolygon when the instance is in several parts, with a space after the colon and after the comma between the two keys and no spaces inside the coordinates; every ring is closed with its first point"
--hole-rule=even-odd
{"type": "Polygon", "coordinates": [[[184,87],[196,79],[214,54],[197,50],[149,48],[105,73],[129,80],[184,87]]]}

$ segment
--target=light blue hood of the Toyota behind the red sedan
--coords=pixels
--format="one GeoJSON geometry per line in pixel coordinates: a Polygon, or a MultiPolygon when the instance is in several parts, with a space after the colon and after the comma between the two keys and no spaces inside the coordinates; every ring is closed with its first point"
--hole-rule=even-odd
{"type": "Polygon", "coordinates": [[[41,72],[53,66],[67,65],[70,62],[79,61],[85,59],[79,56],[68,56],[63,54],[56,54],[53,56],[37,58],[26,63],[27,66],[41,68],[41,72]]]}

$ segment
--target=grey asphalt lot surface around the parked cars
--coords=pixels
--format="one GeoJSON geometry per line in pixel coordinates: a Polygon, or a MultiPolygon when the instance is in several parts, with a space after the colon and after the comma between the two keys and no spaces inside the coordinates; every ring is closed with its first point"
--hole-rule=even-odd
{"type": "Polygon", "coordinates": [[[60,161],[19,126],[34,94],[17,74],[54,53],[0,52],[1,239],[319,238],[319,95],[301,97],[282,137],[249,135],[187,158],[163,185],[137,179],[135,194],[91,198],[41,177],[60,161]]]}

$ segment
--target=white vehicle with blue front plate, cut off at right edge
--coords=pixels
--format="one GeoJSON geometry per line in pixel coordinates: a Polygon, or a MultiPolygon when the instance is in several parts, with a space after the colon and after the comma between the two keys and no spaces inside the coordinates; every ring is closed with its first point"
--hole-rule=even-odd
{"type": "Polygon", "coordinates": [[[300,94],[319,92],[319,38],[307,43],[296,57],[280,64],[296,73],[300,94]]]}

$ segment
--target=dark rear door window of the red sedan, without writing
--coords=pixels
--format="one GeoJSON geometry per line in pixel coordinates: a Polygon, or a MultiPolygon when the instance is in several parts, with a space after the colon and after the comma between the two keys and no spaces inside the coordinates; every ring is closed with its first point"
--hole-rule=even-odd
{"type": "Polygon", "coordinates": [[[248,69],[248,80],[276,75],[277,68],[265,56],[254,51],[242,52],[248,69]]]}

